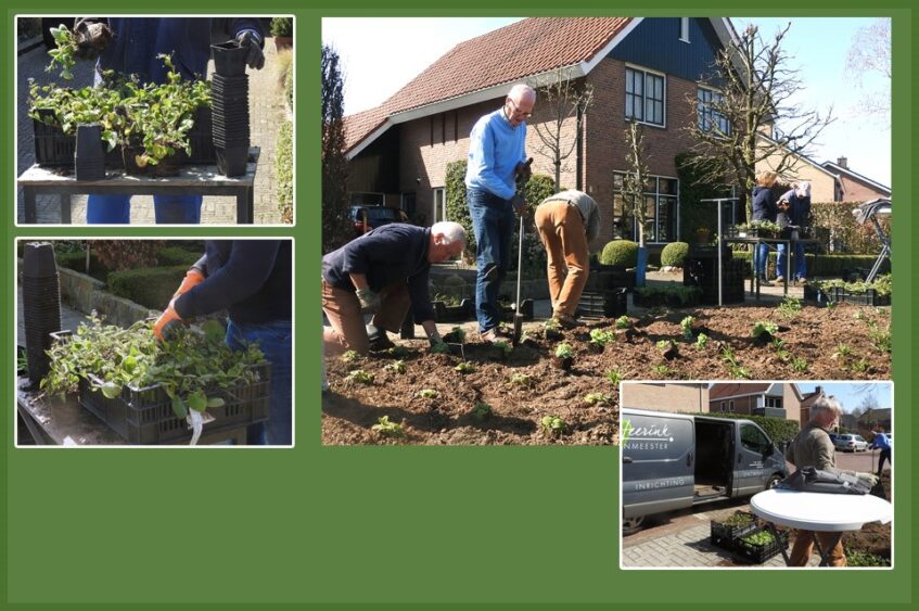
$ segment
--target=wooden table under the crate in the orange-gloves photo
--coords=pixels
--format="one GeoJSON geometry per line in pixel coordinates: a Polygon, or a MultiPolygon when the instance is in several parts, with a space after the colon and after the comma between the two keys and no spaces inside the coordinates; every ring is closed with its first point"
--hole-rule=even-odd
{"type": "MultiPolygon", "coordinates": [[[[73,397],[49,399],[43,393],[30,389],[25,377],[16,378],[16,409],[37,445],[137,447],[128,444],[73,397]]],[[[245,445],[246,427],[209,431],[205,425],[197,443],[245,445]]]]}

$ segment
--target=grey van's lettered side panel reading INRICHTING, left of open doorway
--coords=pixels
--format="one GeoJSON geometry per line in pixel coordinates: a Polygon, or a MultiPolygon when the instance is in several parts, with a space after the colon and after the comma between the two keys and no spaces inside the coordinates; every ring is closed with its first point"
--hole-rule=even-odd
{"type": "Polygon", "coordinates": [[[691,418],[623,410],[623,517],[692,505],[695,432],[691,418]]]}

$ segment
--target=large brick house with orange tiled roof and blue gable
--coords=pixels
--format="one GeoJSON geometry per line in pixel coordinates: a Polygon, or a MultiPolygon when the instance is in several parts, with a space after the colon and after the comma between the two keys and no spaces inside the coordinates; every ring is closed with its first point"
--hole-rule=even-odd
{"type": "MultiPolygon", "coordinates": [[[[635,236],[621,195],[631,120],[643,125],[652,175],[646,239],[673,241],[680,216],[675,155],[693,144],[684,128],[724,120],[707,103],[718,92],[700,82],[733,37],[727,18],[538,17],[461,42],[379,107],[346,117],[349,191],[355,203],[398,206],[429,225],[444,219],[446,167],[467,158],[475,122],[501,107],[513,84],[538,88],[564,71],[576,86],[593,88],[580,130],[574,117],[563,124],[562,141],[575,148],[561,175],[562,187],[586,191],[600,206],[591,246],[635,236]]],[[[538,99],[527,122],[534,171],[547,175],[553,166],[539,154],[535,125],[552,115],[538,99]]]]}

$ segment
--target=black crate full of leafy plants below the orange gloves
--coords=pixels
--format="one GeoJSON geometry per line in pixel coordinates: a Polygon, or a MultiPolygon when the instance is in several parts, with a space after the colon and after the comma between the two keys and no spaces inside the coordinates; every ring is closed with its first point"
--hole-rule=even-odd
{"type": "Polygon", "coordinates": [[[130,444],[188,443],[191,411],[201,413],[205,433],[268,418],[270,365],[255,345],[231,351],[216,320],[158,342],[151,321],[122,329],[91,318],[55,340],[41,387],[76,394],[130,444]]]}

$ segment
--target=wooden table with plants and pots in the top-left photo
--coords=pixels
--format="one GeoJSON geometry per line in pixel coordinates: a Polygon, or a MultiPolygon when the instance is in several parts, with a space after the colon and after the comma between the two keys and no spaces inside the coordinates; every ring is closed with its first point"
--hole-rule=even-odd
{"type": "Polygon", "coordinates": [[[260,149],[248,151],[246,173],[237,178],[227,178],[217,173],[216,165],[182,166],[178,176],[156,178],[153,176],[128,176],[120,171],[106,171],[105,180],[77,180],[73,171],[60,174],[37,164],[25,170],[16,183],[25,196],[25,221],[38,222],[36,196],[59,195],[61,224],[69,225],[71,196],[79,194],[100,195],[231,195],[237,198],[237,222],[252,225],[254,217],[255,169],[260,149]]]}

